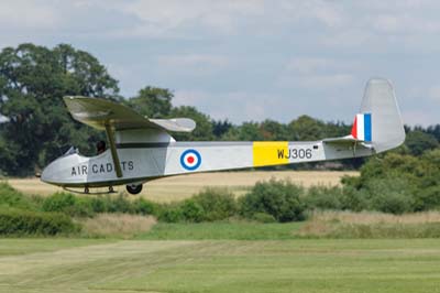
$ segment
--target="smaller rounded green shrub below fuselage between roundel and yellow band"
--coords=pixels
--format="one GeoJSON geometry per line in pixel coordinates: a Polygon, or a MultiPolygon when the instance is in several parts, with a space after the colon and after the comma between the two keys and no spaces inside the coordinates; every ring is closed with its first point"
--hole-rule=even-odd
{"type": "Polygon", "coordinates": [[[205,221],[223,220],[237,214],[237,202],[224,188],[206,188],[193,197],[204,209],[205,221]]]}

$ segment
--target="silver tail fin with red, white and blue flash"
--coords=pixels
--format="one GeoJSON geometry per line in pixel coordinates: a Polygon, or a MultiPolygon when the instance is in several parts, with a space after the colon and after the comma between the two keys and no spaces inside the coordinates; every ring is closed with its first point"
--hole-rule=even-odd
{"type": "Polygon", "coordinates": [[[354,139],[371,143],[376,152],[384,152],[404,143],[405,129],[389,80],[369,80],[360,112],[352,128],[351,134],[354,139]]]}

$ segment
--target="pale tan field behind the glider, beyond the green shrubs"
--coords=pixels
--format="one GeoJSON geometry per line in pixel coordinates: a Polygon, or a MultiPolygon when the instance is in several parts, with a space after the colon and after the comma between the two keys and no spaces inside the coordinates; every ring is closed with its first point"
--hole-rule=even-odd
{"type": "MultiPolygon", "coordinates": [[[[242,195],[257,181],[271,177],[288,178],[294,183],[310,186],[314,184],[338,185],[343,175],[358,175],[358,172],[329,171],[283,171],[283,172],[215,172],[180,175],[148,182],[144,185],[142,196],[155,202],[172,202],[190,197],[205,186],[222,186],[237,195],[242,195]]],[[[9,178],[9,183],[25,194],[48,195],[62,188],[42,183],[37,178],[9,178]]],[[[124,186],[116,187],[124,191],[124,186]]]]}

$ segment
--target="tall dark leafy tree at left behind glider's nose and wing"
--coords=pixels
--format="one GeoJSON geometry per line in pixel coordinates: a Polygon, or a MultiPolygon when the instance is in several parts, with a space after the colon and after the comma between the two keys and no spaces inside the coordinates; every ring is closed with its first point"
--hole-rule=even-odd
{"type": "Polygon", "coordinates": [[[118,82],[87,52],[61,44],[53,50],[33,44],[6,47],[0,53],[0,170],[25,175],[61,154],[61,146],[77,143],[86,152],[90,138],[101,133],[74,122],[63,96],[118,99],[118,82]]]}

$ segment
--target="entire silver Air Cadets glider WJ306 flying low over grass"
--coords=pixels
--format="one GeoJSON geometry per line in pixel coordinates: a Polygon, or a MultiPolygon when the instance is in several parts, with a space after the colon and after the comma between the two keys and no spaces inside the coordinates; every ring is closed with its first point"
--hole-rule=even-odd
{"type": "Polygon", "coordinates": [[[320,141],[177,142],[169,132],[190,132],[191,119],[150,119],[116,102],[64,97],[72,117],[105,130],[109,149],[87,158],[72,148],[46,166],[43,182],[64,188],[142,184],[162,176],[373,155],[400,145],[405,130],[393,85],[374,78],[366,84],[360,112],[346,137],[320,141]]]}

